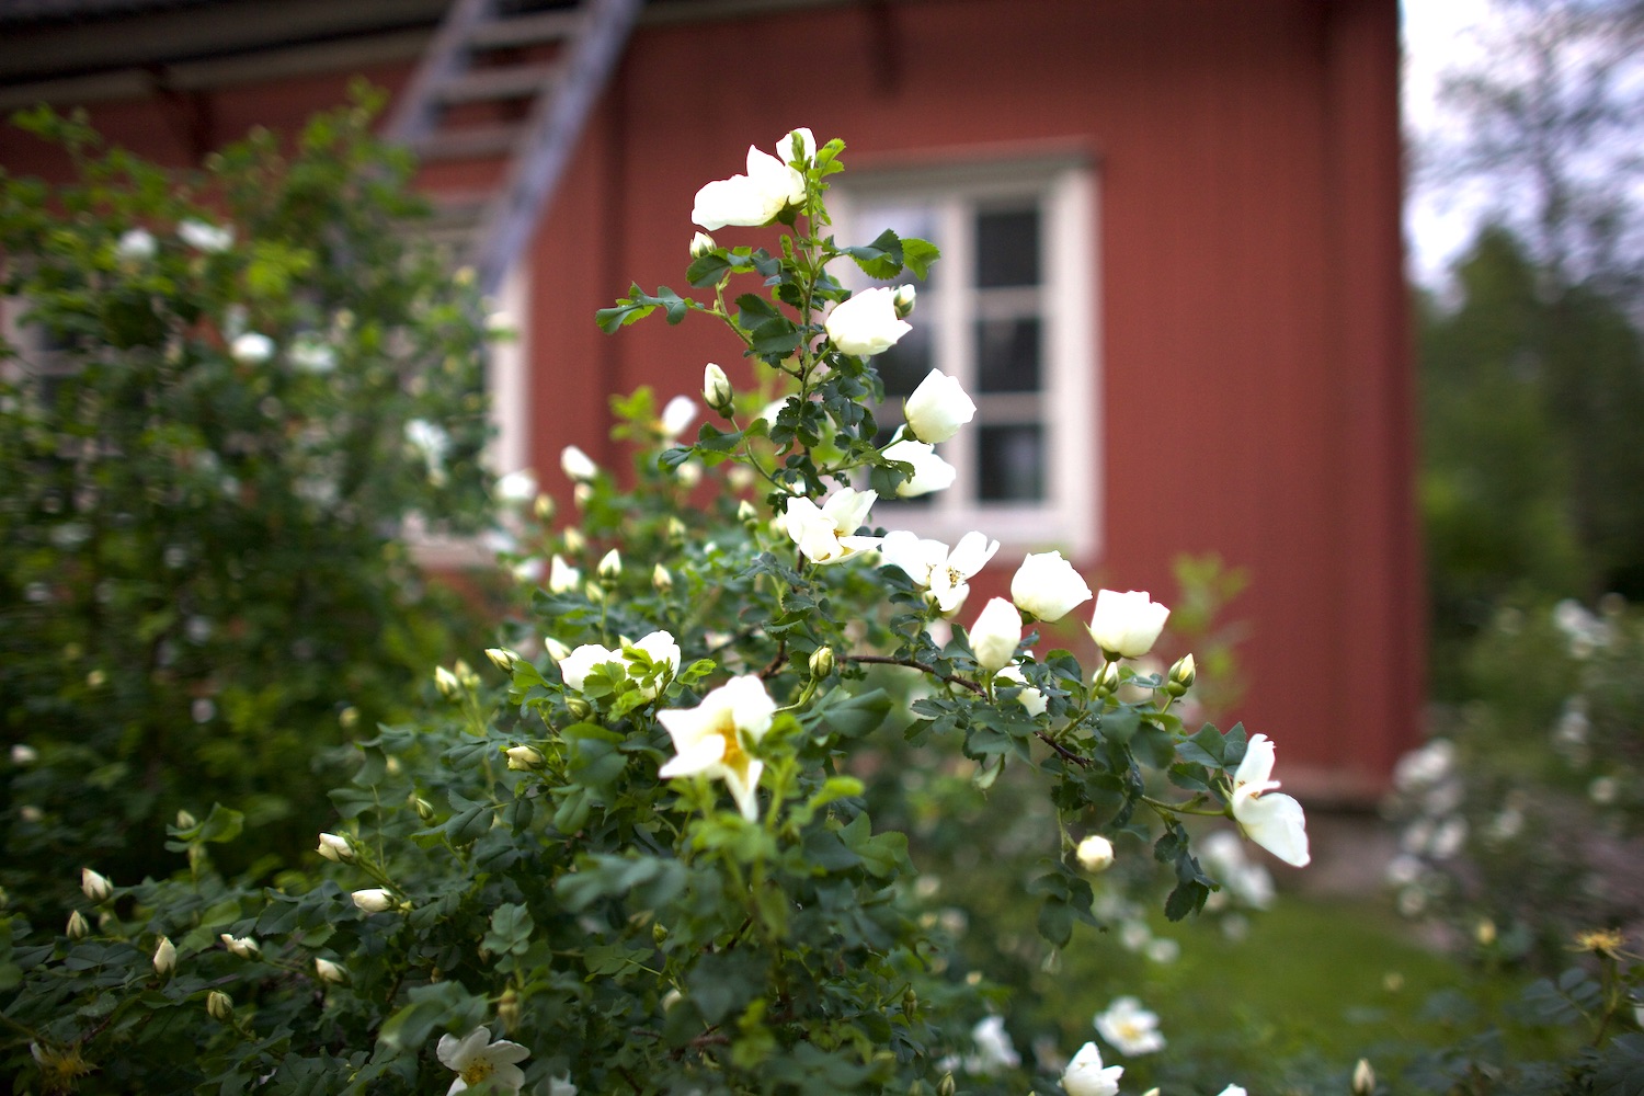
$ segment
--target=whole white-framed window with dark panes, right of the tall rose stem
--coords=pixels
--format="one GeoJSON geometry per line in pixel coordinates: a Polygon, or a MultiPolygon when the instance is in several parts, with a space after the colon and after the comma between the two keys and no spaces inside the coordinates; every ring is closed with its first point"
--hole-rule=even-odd
{"type": "Polygon", "coordinates": [[[949,542],[981,529],[1011,547],[1095,552],[1090,169],[1064,158],[853,173],[832,207],[842,242],[889,227],[942,248],[916,283],[914,330],[876,360],[884,439],[901,422],[901,399],[934,368],[960,378],[977,403],[975,421],[937,449],[958,472],[954,486],[881,503],[876,519],[949,542]]]}

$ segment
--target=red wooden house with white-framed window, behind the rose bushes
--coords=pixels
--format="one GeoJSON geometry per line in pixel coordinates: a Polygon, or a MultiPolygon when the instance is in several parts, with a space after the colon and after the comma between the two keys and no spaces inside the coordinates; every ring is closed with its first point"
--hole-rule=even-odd
{"type": "Polygon", "coordinates": [[[613,338],[593,311],[679,284],[692,196],[750,143],[845,138],[838,235],[945,251],[903,366],[980,406],[958,485],[876,518],[985,529],[1011,565],[1060,546],[1121,590],[1169,590],[1180,552],[1246,569],[1241,713],[1315,802],[1378,789],[1422,700],[1397,71],[1396,0],[0,7],[0,105],[85,105],[159,159],[293,127],[357,72],[396,89],[523,322],[498,463],[556,486],[562,445],[610,454],[608,393],[737,358],[707,324],[613,338]]]}

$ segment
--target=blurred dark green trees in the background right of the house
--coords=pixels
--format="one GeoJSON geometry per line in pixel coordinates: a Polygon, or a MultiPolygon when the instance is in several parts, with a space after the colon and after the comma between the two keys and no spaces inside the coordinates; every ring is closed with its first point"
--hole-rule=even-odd
{"type": "Polygon", "coordinates": [[[1503,605],[1644,598],[1644,342],[1621,304],[1557,281],[1506,230],[1420,304],[1434,690],[1503,605]]]}

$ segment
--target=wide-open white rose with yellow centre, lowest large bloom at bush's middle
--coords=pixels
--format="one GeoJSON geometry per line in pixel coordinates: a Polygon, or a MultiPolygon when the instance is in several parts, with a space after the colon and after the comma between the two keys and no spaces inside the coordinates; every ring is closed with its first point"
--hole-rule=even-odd
{"type": "Polygon", "coordinates": [[[674,759],[658,776],[707,776],[725,781],[741,817],[760,817],[760,774],[764,762],[748,754],[748,746],[771,730],[776,702],[755,674],[733,677],[695,708],[658,711],[656,718],[674,739],[674,759]]]}

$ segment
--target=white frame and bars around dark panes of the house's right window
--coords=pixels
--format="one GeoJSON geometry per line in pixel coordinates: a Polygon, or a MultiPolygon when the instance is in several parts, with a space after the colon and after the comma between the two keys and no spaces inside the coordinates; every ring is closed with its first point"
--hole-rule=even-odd
{"type": "MultiPolygon", "coordinates": [[[[934,324],[932,365],[958,376],[975,393],[977,315],[973,223],[977,209],[1037,199],[1041,220],[1042,358],[1041,422],[1046,431],[1046,493],[1037,503],[990,503],[975,498],[975,424],[937,447],[958,472],[955,485],[921,506],[881,501],[875,523],[912,529],[949,544],[980,529],[1004,554],[1059,547],[1090,560],[1101,550],[1101,414],[1097,347],[1097,181],[1088,158],[1041,156],[967,161],[945,166],[852,169],[829,194],[840,243],[866,243],[884,225],[866,223],[866,207],[898,202],[932,207],[932,243],[942,250],[942,286],[927,304],[921,297],[911,322],[934,324]]],[[[845,265],[840,265],[845,276],[845,265]]],[[[865,283],[850,269],[847,284],[865,283]]],[[[998,291],[995,291],[998,292],[998,291]]]]}

